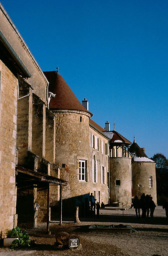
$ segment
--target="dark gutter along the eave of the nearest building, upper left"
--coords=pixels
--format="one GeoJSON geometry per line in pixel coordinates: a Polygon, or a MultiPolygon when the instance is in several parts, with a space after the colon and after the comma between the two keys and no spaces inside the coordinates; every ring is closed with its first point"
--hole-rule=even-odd
{"type": "Polygon", "coordinates": [[[31,77],[30,72],[28,71],[28,69],[25,67],[25,65],[23,64],[23,62],[21,61],[21,59],[18,57],[17,53],[14,51],[14,49],[11,47],[11,45],[8,43],[8,41],[6,40],[6,38],[4,37],[4,35],[2,34],[2,32],[0,31],[0,40],[3,42],[3,44],[5,45],[5,47],[8,49],[8,51],[10,52],[10,54],[13,56],[13,58],[16,60],[17,64],[22,68],[22,70],[24,71],[26,78],[31,77]]]}

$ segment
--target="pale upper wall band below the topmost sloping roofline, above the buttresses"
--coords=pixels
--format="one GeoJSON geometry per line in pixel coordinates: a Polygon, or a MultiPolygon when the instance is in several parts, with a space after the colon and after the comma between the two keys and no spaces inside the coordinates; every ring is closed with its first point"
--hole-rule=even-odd
{"type": "Polygon", "coordinates": [[[23,44],[21,38],[12,28],[9,21],[0,10],[0,31],[19,56],[23,64],[31,73],[31,77],[27,79],[27,82],[31,84],[34,89],[34,93],[37,94],[46,103],[46,88],[47,81],[44,74],[39,69],[37,63],[32,59],[26,46],[23,44]]]}

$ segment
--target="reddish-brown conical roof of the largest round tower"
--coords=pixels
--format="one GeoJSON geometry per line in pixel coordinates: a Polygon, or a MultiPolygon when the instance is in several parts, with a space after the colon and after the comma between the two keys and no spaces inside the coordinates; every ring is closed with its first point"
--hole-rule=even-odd
{"type": "Polygon", "coordinates": [[[56,94],[55,97],[51,97],[50,109],[80,110],[92,116],[92,113],[80,103],[58,71],[44,71],[44,74],[49,81],[48,90],[56,94]]]}

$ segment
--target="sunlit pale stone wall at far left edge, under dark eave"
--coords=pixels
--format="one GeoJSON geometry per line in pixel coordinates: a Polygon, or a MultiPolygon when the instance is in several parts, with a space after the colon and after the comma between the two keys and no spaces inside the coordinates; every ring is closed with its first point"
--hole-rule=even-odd
{"type": "Polygon", "coordinates": [[[13,227],[16,187],[17,79],[0,60],[0,231],[13,227]]]}

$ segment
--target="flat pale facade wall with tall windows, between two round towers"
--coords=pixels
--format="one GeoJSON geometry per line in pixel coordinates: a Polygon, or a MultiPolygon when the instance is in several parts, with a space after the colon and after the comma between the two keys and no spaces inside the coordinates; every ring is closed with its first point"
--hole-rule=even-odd
{"type": "Polygon", "coordinates": [[[90,166],[91,171],[89,173],[90,178],[90,192],[96,196],[96,202],[104,202],[107,204],[109,202],[109,189],[108,189],[108,151],[105,150],[105,144],[108,143],[108,139],[99,133],[97,130],[89,127],[90,131],[90,166]],[[93,135],[94,135],[94,145],[93,145],[93,135]],[[96,141],[97,140],[97,141],[96,141]],[[94,181],[94,167],[92,166],[92,161],[96,160],[97,165],[97,178],[94,181]],[[104,178],[102,177],[102,167],[104,167],[104,178]]]}

